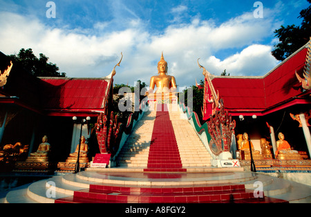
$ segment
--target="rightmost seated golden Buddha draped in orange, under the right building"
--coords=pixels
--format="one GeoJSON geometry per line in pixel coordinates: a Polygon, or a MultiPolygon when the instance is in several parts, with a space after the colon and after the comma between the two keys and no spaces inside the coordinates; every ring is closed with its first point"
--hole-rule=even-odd
{"type": "Polygon", "coordinates": [[[292,150],[288,141],[284,140],[283,133],[278,134],[279,140],[276,141],[276,159],[279,160],[302,160],[303,158],[296,150],[292,150]]]}

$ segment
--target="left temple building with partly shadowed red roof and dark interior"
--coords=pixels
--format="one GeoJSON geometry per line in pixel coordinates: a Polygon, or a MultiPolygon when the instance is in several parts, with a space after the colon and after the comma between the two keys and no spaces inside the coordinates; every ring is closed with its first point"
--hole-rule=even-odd
{"type": "MultiPolygon", "coordinates": [[[[8,66],[10,59],[0,53],[1,72],[8,66]]],[[[29,155],[37,151],[46,135],[52,150],[50,159],[66,160],[79,144],[81,123],[74,122],[73,117],[91,117],[95,123],[112,103],[112,86],[113,73],[100,78],[35,77],[13,66],[0,86],[1,147],[20,142],[28,145],[29,155]]],[[[90,133],[84,125],[82,135],[87,139],[90,133]]],[[[98,145],[90,151],[95,155],[98,145]]]]}

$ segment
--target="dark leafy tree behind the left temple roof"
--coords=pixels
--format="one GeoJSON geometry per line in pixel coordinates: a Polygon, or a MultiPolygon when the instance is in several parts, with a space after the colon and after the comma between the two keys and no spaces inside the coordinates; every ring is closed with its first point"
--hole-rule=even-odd
{"type": "Polygon", "coordinates": [[[21,66],[37,77],[66,77],[66,73],[59,73],[56,64],[48,63],[46,55],[40,53],[39,58],[37,58],[31,48],[27,50],[21,48],[19,54],[9,55],[9,57],[14,64],[21,66]]]}

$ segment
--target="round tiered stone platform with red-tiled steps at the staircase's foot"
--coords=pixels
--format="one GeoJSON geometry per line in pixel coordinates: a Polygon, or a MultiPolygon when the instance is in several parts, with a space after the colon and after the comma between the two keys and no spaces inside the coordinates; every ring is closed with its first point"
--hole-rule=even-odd
{"type": "Polygon", "coordinates": [[[5,202],[311,202],[310,196],[310,186],[250,172],[146,173],[102,169],[34,182],[10,191],[5,202]],[[263,191],[254,194],[258,183],[263,191]],[[53,185],[55,192],[50,194],[53,185]]]}

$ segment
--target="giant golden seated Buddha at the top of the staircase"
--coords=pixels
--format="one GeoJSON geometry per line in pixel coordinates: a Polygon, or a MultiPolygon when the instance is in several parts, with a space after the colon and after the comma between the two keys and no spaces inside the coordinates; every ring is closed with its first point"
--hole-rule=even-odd
{"type": "Polygon", "coordinates": [[[146,93],[149,98],[162,97],[163,94],[168,94],[168,97],[176,97],[177,85],[175,77],[167,75],[167,62],[164,60],[163,53],[158,62],[158,75],[152,76],[150,79],[150,89],[146,93]],[[153,93],[154,88],[157,88],[153,93]]]}

